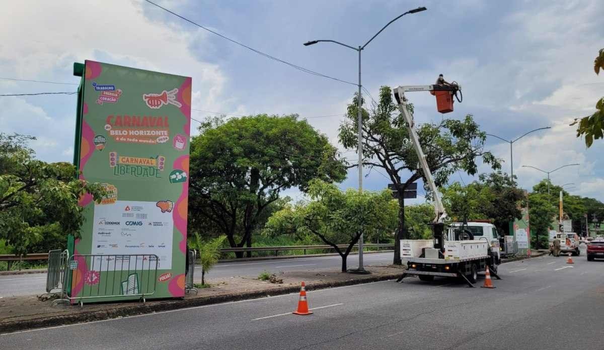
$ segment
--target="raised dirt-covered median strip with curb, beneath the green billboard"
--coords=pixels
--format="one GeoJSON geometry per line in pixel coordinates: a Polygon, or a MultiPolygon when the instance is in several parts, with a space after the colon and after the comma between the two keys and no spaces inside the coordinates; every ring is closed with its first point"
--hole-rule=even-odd
{"type": "MultiPolygon", "coordinates": [[[[184,299],[160,301],[122,302],[112,304],[88,304],[78,306],[51,306],[51,301],[39,301],[36,296],[16,296],[0,299],[0,334],[31,328],[67,325],[111,319],[135,314],[194,307],[219,302],[261,298],[269,295],[297,293],[300,282],[307,290],[350,286],[397,278],[402,273],[400,266],[367,266],[370,275],[341,273],[339,269],[285,272],[278,275],[283,284],[259,281],[256,277],[231,277],[210,279],[210,288],[199,289],[198,295],[187,295],[184,299]]],[[[292,305],[295,307],[295,305],[292,305]]]]}

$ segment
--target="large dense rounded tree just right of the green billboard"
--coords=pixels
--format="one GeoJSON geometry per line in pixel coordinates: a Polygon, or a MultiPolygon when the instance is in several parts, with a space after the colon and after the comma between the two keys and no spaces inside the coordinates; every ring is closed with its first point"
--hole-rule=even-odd
{"type": "MultiPolygon", "coordinates": [[[[252,232],[282,190],[304,191],[312,178],[344,179],[344,166],[327,137],[297,118],[213,119],[193,137],[189,212],[212,222],[231,247],[252,245],[252,232]]],[[[201,232],[198,222],[191,226],[201,232]]]]}

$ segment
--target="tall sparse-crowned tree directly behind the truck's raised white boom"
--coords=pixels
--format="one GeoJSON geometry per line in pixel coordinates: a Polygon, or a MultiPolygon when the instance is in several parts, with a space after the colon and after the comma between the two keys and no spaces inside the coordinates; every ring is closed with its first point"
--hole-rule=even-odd
{"type": "MultiPolygon", "coordinates": [[[[358,106],[357,97],[348,105],[346,120],[339,128],[339,141],[346,149],[356,149],[358,142],[358,106]]],[[[364,102],[364,101],[362,101],[364,102]]],[[[413,113],[413,105],[408,105],[413,113]]],[[[394,102],[390,87],[382,86],[379,101],[371,110],[362,108],[362,147],[363,165],[370,169],[382,168],[391,183],[399,189],[399,239],[405,239],[405,202],[402,192],[406,186],[423,178],[418,165],[417,154],[411,144],[406,123],[394,102]],[[407,170],[408,178],[400,173],[407,170]]],[[[416,125],[417,134],[428,166],[434,175],[437,186],[447,183],[449,176],[458,170],[474,175],[478,171],[477,158],[490,164],[493,169],[500,162],[484,151],[486,134],[480,131],[478,124],[468,114],[463,120],[443,119],[440,123],[416,125]]],[[[358,166],[353,164],[351,167],[358,166]]],[[[425,180],[425,179],[424,179],[425,180]]],[[[400,264],[400,247],[395,245],[394,263],[400,264]]]]}

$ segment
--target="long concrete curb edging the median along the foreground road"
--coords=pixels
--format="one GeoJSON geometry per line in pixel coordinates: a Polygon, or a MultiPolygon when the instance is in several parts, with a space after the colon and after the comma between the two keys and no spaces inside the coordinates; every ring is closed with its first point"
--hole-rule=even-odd
{"type": "MultiPolygon", "coordinates": [[[[356,280],[333,281],[311,283],[306,285],[306,290],[327,289],[332,287],[353,286],[355,284],[372,283],[392,280],[398,278],[400,273],[388,273],[387,275],[372,276],[356,280]]],[[[158,311],[176,310],[179,308],[196,307],[221,302],[240,301],[246,299],[257,299],[265,296],[283,295],[300,292],[299,286],[282,287],[271,290],[257,290],[254,292],[232,293],[226,295],[208,296],[207,298],[191,298],[164,301],[149,301],[146,304],[123,305],[108,310],[83,311],[75,314],[60,316],[36,317],[28,320],[14,320],[0,323],[0,334],[11,333],[35,328],[53,327],[59,325],[70,325],[74,323],[91,322],[97,320],[108,320],[118,317],[134,316],[138,314],[155,313],[158,311]]]]}

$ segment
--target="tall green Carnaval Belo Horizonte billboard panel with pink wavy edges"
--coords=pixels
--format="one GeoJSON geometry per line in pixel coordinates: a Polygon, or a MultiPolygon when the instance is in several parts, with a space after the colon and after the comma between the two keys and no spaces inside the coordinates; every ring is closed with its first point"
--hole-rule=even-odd
{"type": "Polygon", "coordinates": [[[78,105],[80,178],[106,195],[80,199],[71,297],[184,296],[191,78],[86,61],[78,105]]]}

